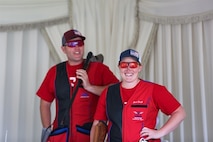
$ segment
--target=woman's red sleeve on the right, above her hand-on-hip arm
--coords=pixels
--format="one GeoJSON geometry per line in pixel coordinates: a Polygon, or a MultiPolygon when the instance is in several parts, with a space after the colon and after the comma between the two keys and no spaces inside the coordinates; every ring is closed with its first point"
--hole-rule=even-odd
{"type": "Polygon", "coordinates": [[[177,99],[164,86],[154,87],[153,98],[157,107],[166,115],[172,114],[180,106],[177,99]]]}

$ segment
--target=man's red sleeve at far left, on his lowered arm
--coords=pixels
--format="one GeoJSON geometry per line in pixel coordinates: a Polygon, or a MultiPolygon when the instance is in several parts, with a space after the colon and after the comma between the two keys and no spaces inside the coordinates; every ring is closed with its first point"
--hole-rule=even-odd
{"type": "Polygon", "coordinates": [[[56,76],[56,66],[53,66],[49,69],[44,78],[40,88],[37,91],[37,96],[41,99],[52,102],[55,98],[54,94],[54,84],[55,84],[55,76],[56,76]]]}

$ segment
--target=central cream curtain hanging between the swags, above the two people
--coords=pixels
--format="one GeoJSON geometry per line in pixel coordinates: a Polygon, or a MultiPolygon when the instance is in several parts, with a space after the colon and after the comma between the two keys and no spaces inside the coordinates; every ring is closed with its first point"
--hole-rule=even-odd
{"type": "Polygon", "coordinates": [[[72,1],[73,27],[86,35],[86,51],[104,53],[104,63],[112,70],[117,69],[120,51],[134,39],[135,5],[136,1],[130,0],[72,1]]]}

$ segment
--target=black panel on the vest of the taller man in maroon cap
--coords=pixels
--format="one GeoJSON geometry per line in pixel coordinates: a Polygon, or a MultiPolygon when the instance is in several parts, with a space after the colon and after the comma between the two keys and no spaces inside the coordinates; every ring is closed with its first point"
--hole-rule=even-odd
{"type": "Polygon", "coordinates": [[[56,65],[55,92],[58,101],[58,127],[69,127],[69,111],[65,115],[70,101],[70,83],[66,71],[66,62],[56,65]],[[62,122],[63,124],[61,124],[62,122]]]}

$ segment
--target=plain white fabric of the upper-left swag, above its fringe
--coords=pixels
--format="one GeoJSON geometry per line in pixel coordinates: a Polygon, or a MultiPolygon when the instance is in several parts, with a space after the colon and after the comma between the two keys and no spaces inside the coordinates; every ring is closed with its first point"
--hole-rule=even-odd
{"type": "Polygon", "coordinates": [[[25,24],[68,16],[67,0],[0,1],[0,24],[25,24]]]}

